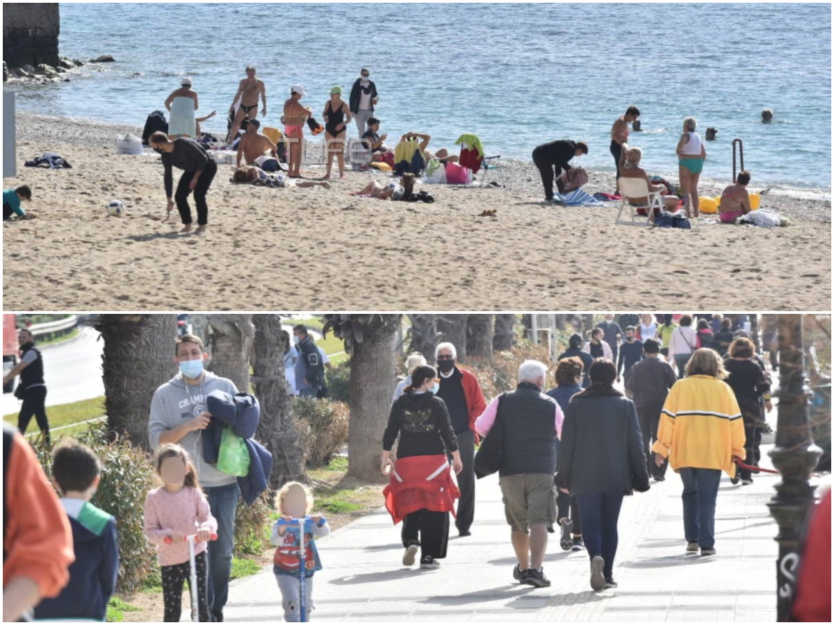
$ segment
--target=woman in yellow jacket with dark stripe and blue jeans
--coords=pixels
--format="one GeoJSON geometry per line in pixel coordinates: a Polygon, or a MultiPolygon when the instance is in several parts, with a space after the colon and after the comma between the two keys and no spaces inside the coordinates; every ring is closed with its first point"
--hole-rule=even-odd
{"type": "Polygon", "coordinates": [[[686,378],[671,388],[661,413],[655,462],[669,458],[683,481],[686,551],[715,555],[716,498],[721,471],[735,475],[744,458],[744,421],[728,384],[721,356],[699,349],[686,364],[686,378]]]}

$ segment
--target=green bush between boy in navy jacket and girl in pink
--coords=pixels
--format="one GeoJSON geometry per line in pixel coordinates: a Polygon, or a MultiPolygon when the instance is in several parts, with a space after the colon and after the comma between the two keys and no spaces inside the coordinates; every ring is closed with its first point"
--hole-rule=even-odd
{"type": "MultiPolygon", "coordinates": [[[[88,445],[101,458],[102,481],[91,503],[116,517],[121,562],[118,590],[133,591],[157,568],[156,552],[144,533],[144,501],[153,488],[153,463],[148,453],[126,440],[108,443],[107,424],[96,423],[79,433],[79,443],[88,445]]],[[[38,443],[38,459],[52,477],[52,448],[38,443]]]]}

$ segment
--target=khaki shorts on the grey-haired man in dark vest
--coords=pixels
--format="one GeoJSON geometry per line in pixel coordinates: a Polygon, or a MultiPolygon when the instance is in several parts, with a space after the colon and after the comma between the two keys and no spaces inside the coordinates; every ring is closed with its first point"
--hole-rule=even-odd
{"type": "Polygon", "coordinates": [[[499,479],[504,514],[516,532],[530,533],[531,525],[556,520],[556,487],[550,473],[505,475],[499,479]]]}

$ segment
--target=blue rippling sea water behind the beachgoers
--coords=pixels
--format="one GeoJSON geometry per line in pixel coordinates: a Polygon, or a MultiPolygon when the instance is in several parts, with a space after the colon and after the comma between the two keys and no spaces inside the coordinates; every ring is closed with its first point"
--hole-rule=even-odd
{"type": "Polygon", "coordinates": [[[368,67],[391,145],[415,131],[456,152],[455,139],[475,133],[487,153],[529,160],[536,145],[570,138],[590,147],[575,164],[613,172],[610,127],[635,104],[644,132],[629,143],[650,173],[677,178],[682,120],[694,116],[701,137],[718,129],[703,178],[731,179],[741,138],[752,188],[830,197],[828,4],[62,3],[60,47],[117,62],[16,84],[20,110],[141,126],[190,76],[199,112],[219,112],[204,130],[225,133],[250,63],[273,126],[290,84],[304,85],[320,119],[329,88],[347,100],[368,67]]]}

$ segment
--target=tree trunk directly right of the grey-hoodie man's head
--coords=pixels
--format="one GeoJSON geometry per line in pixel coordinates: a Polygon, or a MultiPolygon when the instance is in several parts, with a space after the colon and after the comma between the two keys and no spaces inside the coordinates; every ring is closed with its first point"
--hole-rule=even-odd
{"type": "Polygon", "coordinates": [[[249,393],[253,339],[252,315],[208,315],[210,369],[221,378],[229,378],[241,393],[249,393]]]}

